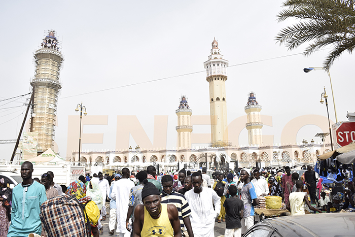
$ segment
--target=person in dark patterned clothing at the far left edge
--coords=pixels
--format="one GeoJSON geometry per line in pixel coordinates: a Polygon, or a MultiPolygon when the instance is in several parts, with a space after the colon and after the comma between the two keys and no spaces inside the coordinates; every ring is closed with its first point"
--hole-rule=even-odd
{"type": "Polygon", "coordinates": [[[6,237],[11,220],[12,191],[4,178],[0,179],[0,237],[6,237]]]}

